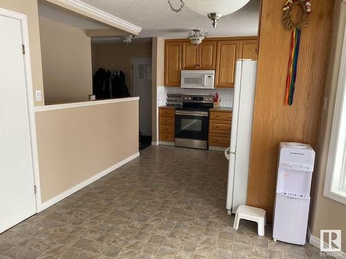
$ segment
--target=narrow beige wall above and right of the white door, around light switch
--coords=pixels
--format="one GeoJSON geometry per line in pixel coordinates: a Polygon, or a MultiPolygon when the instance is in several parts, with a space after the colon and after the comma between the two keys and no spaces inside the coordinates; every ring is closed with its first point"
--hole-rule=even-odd
{"type": "MultiPolygon", "coordinates": [[[[21,14],[27,16],[33,90],[34,93],[35,90],[42,90],[43,98],[44,88],[42,81],[41,46],[39,44],[39,18],[37,11],[37,0],[0,0],[0,8],[20,12],[21,14]]],[[[42,99],[41,102],[35,101],[35,106],[37,105],[44,105],[44,99],[42,99]]]]}

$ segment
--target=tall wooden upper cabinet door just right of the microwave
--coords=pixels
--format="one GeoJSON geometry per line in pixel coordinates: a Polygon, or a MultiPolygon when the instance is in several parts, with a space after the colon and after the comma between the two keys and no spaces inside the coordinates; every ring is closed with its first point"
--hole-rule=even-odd
{"type": "Polygon", "coordinates": [[[235,62],[239,41],[217,41],[217,65],[215,86],[235,86],[235,62]]]}

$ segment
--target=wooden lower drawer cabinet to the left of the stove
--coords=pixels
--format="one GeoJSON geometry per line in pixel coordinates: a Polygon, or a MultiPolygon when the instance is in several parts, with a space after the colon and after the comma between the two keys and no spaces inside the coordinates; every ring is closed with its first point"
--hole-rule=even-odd
{"type": "Polygon", "coordinates": [[[158,130],[160,141],[174,142],[174,108],[158,108],[158,130]]]}

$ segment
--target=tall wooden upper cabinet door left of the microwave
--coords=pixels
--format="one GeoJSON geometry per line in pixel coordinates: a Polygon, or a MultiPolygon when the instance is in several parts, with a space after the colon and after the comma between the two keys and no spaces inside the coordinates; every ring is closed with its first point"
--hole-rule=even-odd
{"type": "Polygon", "coordinates": [[[165,43],[165,86],[180,86],[181,42],[165,43]]]}

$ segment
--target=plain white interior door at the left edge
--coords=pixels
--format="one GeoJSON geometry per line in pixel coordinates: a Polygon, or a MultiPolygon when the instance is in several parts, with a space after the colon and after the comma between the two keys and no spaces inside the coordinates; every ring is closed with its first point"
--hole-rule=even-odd
{"type": "Polygon", "coordinates": [[[0,233],[36,213],[21,21],[0,15],[0,233]]]}

